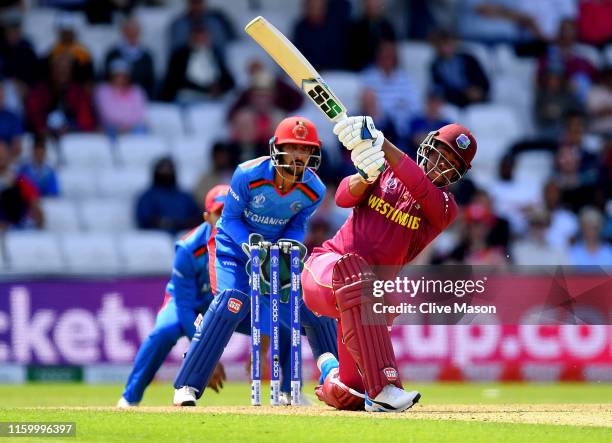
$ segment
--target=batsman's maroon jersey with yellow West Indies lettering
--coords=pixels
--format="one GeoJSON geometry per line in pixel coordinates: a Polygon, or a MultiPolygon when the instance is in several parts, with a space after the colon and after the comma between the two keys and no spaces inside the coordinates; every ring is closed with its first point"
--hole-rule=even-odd
{"type": "Polygon", "coordinates": [[[354,252],[371,265],[397,267],[397,272],[457,216],[453,195],[437,188],[407,155],[394,168],[387,164],[361,198],[350,194],[349,179],[338,187],[336,203],[354,206],[353,212],[336,235],[323,243],[327,251],[354,252]]]}

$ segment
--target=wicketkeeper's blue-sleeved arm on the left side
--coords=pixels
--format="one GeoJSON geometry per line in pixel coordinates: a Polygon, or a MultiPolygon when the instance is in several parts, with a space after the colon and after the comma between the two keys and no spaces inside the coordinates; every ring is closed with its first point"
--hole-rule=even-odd
{"type": "Polygon", "coordinates": [[[248,177],[238,167],[230,182],[230,189],[225,198],[222,215],[223,232],[229,235],[238,246],[249,242],[249,230],[243,219],[248,199],[248,177]]]}

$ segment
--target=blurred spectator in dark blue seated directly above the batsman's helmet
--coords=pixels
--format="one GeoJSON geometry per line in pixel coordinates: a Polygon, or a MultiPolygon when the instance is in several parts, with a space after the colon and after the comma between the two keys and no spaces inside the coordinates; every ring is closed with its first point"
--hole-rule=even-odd
{"type": "Polygon", "coordinates": [[[488,100],[489,80],[474,56],[457,50],[457,40],[439,30],[433,39],[436,57],[431,63],[431,84],[444,99],[461,108],[488,100]]]}

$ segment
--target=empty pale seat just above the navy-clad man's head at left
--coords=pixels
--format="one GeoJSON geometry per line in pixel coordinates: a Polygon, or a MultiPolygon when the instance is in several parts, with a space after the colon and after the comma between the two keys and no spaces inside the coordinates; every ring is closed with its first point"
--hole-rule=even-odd
{"type": "Polygon", "coordinates": [[[121,165],[149,169],[155,160],[170,151],[161,137],[156,135],[121,135],[117,139],[117,155],[121,165]]]}

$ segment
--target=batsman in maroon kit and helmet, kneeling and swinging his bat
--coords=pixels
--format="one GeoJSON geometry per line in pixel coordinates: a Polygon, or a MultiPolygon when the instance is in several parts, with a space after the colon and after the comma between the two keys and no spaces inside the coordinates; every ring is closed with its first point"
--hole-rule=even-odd
{"type": "Polygon", "coordinates": [[[393,279],[457,216],[447,185],[476,154],[472,133],[458,124],[430,132],[417,162],[384,138],[370,117],[350,117],[334,134],[351,151],[358,173],[345,177],[336,204],[353,211],[336,235],[304,265],[304,302],[338,319],[339,362],[323,355],[319,400],[336,409],[401,412],[421,397],[403,389],[384,314],[373,309],[373,282],[393,279]],[[375,275],[373,266],[385,266],[375,275]],[[380,275],[385,273],[387,275],[380,275]],[[370,320],[362,321],[362,313],[370,320]],[[367,324],[364,324],[367,323],[367,324]]]}

